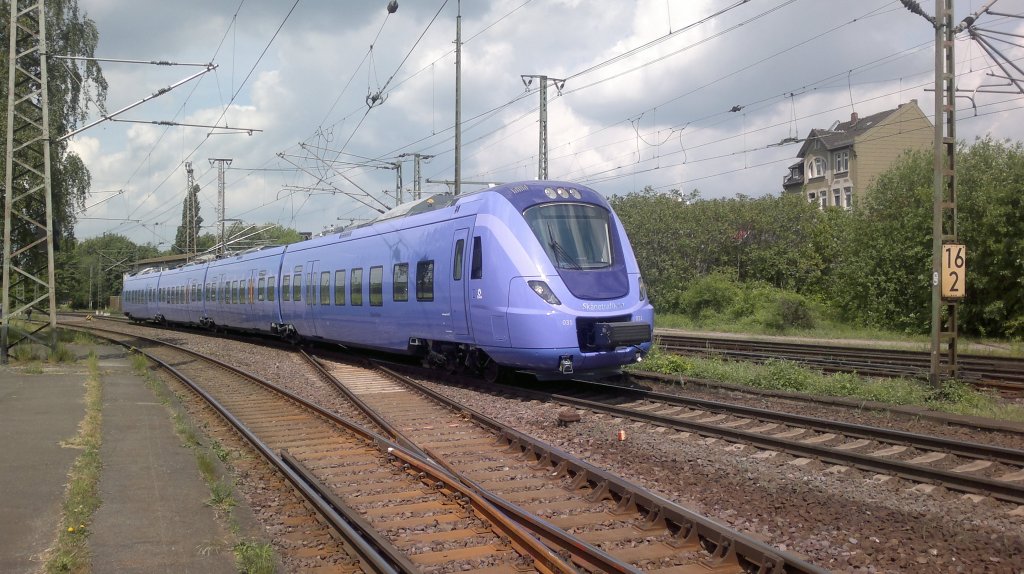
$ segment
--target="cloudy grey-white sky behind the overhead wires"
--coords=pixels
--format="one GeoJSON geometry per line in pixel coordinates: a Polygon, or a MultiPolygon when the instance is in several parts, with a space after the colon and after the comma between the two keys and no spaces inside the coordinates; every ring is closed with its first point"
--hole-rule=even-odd
{"type": "MultiPolygon", "coordinates": [[[[455,174],[456,0],[399,0],[392,14],[386,0],[79,2],[101,57],[217,67],[118,117],[131,123],[75,136],[93,189],[80,239],[121,233],[168,249],[186,162],[213,231],[211,158],[231,159],[225,219],[314,233],[393,206],[395,162],[410,198],[414,153],[433,156],[422,164],[424,193],[447,190],[426,180],[455,174]]],[[[955,21],[984,3],[956,0],[955,21]]],[[[922,5],[933,13],[934,2],[922,5]]],[[[1024,0],[992,9],[1022,14],[1024,0]]],[[[978,25],[1024,33],[1020,18],[986,14],[978,25]]],[[[560,92],[548,88],[550,178],[605,195],[645,186],[777,194],[800,148],[778,145],[786,138],[911,99],[934,117],[934,30],[895,0],[467,0],[462,38],[467,182],[537,178],[540,81],[527,88],[524,75],[565,80],[560,92]]],[[[966,35],[956,60],[959,88],[998,83],[966,35]]],[[[102,67],[109,113],[204,70],[102,67]]],[[[958,102],[959,139],[1022,139],[1021,96],[977,93],[974,104],[958,102]]]]}

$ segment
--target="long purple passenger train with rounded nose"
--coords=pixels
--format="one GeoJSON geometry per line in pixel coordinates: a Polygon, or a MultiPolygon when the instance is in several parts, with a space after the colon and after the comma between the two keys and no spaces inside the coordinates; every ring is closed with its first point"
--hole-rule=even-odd
{"type": "Polygon", "coordinates": [[[622,222],[596,191],[509,183],[404,204],[286,247],[124,277],[134,321],[266,332],[539,379],[616,372],[654,311],[622,222]]]}

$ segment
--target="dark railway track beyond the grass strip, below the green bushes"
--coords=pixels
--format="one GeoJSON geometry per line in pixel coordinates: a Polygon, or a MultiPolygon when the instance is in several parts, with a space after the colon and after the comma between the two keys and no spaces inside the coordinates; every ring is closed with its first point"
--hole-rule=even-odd
{"type": "MultiPolygon", "coordinates": [[[[926,351],[872,349],[779,341],[751,341],[658,332],[660,349],[680,355],[717,356],[764,362],[785,359],[824,372],[857,372],[867,377],[927,379],[931,355],[926,351]]],[[[1011,395],[1024,394],[1024,359],[959,354],[959,378],[979,387],[1011,395]]]]}

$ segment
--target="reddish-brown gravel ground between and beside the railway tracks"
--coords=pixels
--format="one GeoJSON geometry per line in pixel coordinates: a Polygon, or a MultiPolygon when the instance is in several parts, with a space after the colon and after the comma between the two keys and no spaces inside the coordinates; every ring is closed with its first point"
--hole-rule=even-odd
{"type": "MultiPolygon", "coordinates": [[[[299,370],[301,362],[286,353],[187,334],[157,333],[182,344],[190,341],[191,348],[241,363],[328,408],[340,404],[335,391],[299,374],[305,372],[299,370]]],[[[837,572],[1024,573],[1024,507],[817,461],[799,465],[785,454],[589,412],[583,413],[580,423],[558,427],[560,405],[434,387],[521,432],[837,572]],[[625,431],[624,441],[617,440],[620,430],[625,431]]],[[[710,391],[682,392],[737,400],[731,394],[726,399],[710,391]]],[[[869,411],[757,396],[743,402],[962,440],[1006,440],[1005,446],[1021,447],[1019,437],[992,439],[987,433],[869,411]]]]}

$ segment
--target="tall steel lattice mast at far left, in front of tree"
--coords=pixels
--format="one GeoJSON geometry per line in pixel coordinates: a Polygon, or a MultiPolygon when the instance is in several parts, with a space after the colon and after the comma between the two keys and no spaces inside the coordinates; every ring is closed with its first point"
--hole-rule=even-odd
{"type": "Polygon", "coordinates": [[[57,322],[43,0],[11,0],[9,34],[0,362],[23,342],[52,348],[57,322]],[[11,320],[33,311],[47,321],[13,333],[11,320]]]}

